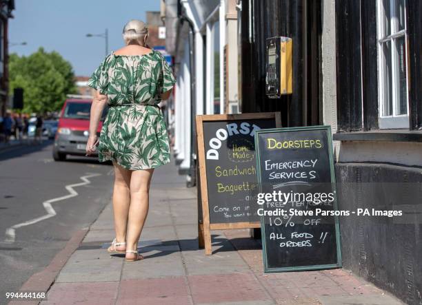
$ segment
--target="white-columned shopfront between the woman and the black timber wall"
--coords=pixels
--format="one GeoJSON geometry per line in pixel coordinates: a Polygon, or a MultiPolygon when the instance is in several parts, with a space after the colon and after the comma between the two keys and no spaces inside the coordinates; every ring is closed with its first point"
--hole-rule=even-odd
{"type": "Polygon", "coordinates": [[[174,157],[188,185],[195,184],[194,116],[239,112],[235,0],[166,0],[166,50],[177,75],[174,157]]]}

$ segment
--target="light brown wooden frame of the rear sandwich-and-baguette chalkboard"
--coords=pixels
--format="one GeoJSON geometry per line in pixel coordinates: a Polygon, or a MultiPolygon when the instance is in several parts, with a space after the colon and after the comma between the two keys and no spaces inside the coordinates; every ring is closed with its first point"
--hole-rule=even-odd
{"type": "MultiPolygon", "coordinates": [[[[211,230],[223,229],[252,229],[261,227],[261,223],[257,222],[228,222],[228,223],[210,223],[210,208],[208,206],[208,185],[205,165],[205,143],[203,139],[203,122],[217,120],[259,120],[263,118],[274,118],[276,127],[281,127],[280,112],[262,112],[250,114],[208,114],[196,116],[197,124],[197,151],[198,151],[198,198],[201,198],[202,222],[198,215],[198,241],[199,248],[205,248],[205,255],[212,254],[211,230]]],[[[257,155],[255,155],[257,156],[257,155]]],[[[199,202],[199,204],[200,204],[199,202]]],[[[199,209],[198,209],[199,210],[199,209]]]]}

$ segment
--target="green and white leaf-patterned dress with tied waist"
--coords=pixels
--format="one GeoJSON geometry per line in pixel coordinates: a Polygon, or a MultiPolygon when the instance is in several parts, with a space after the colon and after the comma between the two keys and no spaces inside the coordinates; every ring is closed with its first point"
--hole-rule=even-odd
{"type": "Polygon", "coordinates": [[[99,160],[125,169],[150,169],[170,162],[170,145],[160,95],[174,76],[163,55],[106,56],[88,85],[108,96],[110,107],[99,138],[99,160]]]}

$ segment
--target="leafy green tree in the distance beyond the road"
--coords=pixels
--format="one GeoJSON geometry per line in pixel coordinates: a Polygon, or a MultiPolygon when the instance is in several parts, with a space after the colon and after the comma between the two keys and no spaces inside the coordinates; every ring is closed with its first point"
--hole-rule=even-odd
{"type": "Polygon", "coordinates": [[[10,92],[23,88],[23,112],[59,110],[66,94],[76,93],[72,65],[53,51],[39,48],[30,56],[10,54],[10,92]]]}

